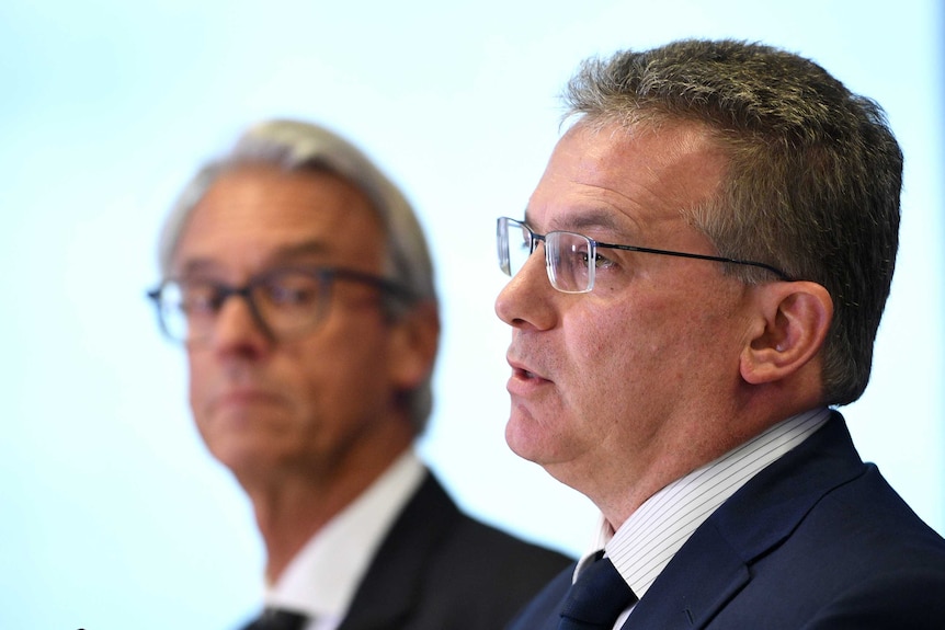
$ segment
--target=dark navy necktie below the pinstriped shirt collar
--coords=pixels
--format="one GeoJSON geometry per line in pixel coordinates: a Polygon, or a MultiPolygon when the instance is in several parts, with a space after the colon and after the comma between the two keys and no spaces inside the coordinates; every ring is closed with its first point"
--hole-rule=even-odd
{"type": "Polygon", "coordinates": [[[558,630],[611,630],[620,612],[636,600],[613,562],[599,557],[568,591],[558,630]]]}

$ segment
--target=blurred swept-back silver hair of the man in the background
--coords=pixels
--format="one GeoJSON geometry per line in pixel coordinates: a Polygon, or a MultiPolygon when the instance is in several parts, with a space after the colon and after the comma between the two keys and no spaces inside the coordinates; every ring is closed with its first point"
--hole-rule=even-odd
{"type": "MultiPolygon", "coordinates": [[[[214,182],[228,171],[253,164],[292,172],[329,172],[357,187],[371,201],[385,231],[385,277],[414,297],[410,303],[388,299],[388,314],[402,317],[417,301],[439,308],[430,250],[407,197],[357,147],[325,127],[299,121],[267,121],[251,127],[228,153],[205,164],[184,186],[160,237],[158,257],[164,277],[171,273],[174,251],[194,208],[214,182]]],[[[418,435],[433,406],[432,378],[431,374],[405,397],[418,435]]]]}

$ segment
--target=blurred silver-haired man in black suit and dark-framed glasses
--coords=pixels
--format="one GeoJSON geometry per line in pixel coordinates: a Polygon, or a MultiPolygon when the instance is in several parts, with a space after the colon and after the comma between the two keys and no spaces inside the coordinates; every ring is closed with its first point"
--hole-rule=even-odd
{"type": "Polygon", "coordinates": [[[569,560],[462,514],[414,454],[440,333],[409,203],[321,127],[261,124],[180,196],[151,291],[267,552],[248,628],[494,630],[569,560]]]}

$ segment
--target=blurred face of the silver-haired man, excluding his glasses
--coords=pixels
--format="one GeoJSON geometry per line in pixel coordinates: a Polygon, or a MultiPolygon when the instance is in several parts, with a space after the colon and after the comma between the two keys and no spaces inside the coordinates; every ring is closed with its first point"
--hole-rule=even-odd
{"type": "MultiPolygon", "coordinates": [[[[173,275],[241,286],[292,266],[380,275],[384,239],[367,198],[318,172],[241,168],[201,201],[173,257],[173,275]]],[[[391,417],[405,383],[374,287],[337,280],[311,331],[267,336],[247,302],[229,298],[210,337],[187,347],[190,400],[213,455],[242,482],[281,472],[323,474],[409,443],[391,417]]]]}

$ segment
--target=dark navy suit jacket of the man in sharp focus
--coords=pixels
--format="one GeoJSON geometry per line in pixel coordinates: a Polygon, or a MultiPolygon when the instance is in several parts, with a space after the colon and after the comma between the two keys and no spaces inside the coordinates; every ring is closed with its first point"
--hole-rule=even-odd
{"type": "MultiPolygon", "coordinates": [[[[573,569],[509,628],[557,628],[573,569]]],[[[945,540],[859,459],[834,412],[696,529],[624,628],[941,630],[945,540]]]]}

